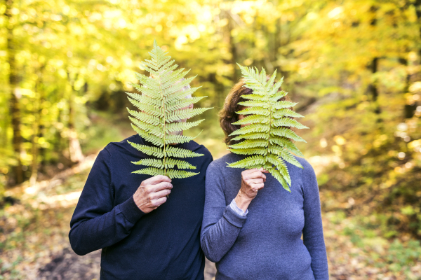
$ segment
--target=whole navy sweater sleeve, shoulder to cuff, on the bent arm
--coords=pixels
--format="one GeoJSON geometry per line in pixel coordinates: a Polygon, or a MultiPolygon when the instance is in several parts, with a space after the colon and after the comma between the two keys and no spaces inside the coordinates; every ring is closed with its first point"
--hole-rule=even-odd
{"type": "Polygon", "coordinates": [[[70,221],[70,245],[78,255],[121,241],[144,215],[133,195],[114,207],[109,158],[106,149],[99,153],[70,221]]]}

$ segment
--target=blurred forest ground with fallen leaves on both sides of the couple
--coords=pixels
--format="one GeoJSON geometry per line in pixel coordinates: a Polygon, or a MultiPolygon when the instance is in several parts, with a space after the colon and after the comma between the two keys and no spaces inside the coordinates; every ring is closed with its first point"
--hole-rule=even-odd
{"type": "MultiPolygon", "coordinates": [[[[78,256],[67,237],[94,160],[90,156],[53,179],[6,192],[13,199],[0,209],[0,279],[99,279],[100,251],[78,256]]],[[[376,223],[323,213],[330,279],[421,279],[420,242],[379,237],[376,223]]],[[[206,262],[205,276],[215,276],[213,263],[206,262]]]]}

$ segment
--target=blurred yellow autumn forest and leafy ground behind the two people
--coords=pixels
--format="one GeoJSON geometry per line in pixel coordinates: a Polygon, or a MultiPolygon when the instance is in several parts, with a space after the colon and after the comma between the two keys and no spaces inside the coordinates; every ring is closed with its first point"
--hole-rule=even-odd
{"type": "Polygon", "coordinates": [[[215,107],[214,158],[235,62],[278,69],[331,279],[421,279],[421,0],[3,0],[0,27],[0,279],[98,278],[69,219],[95,154],[134,134],[125,92],[154,39],[215,107]]]}

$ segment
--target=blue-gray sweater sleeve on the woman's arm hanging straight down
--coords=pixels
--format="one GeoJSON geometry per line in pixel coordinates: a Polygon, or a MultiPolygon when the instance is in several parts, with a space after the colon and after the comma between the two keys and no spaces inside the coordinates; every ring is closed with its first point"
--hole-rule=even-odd
{"type": "Polygon", "coordinates": [[[305,162],[303,164],[303,193],[304,193],[304,229],[303,241],[312,257],[312,270],[314,279],[329,279],[328,259],[323,238],[323,225],[321,222],[321,206],[319,186],[313,167],[305,162]]]}

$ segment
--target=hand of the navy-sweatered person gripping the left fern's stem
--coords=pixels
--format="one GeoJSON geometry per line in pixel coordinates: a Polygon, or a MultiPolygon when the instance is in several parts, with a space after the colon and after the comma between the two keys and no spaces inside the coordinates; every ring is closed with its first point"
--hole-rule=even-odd
{"type": "Polygon", "coordinates": [[[133,200],[143,213],[149,213],[166,202],[172,188],[171,179],[167,176],[153,176],[142,181],[133,200]]]}

